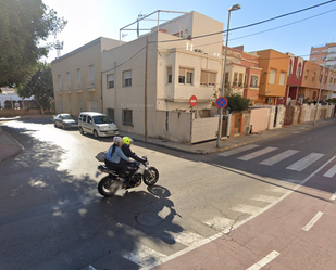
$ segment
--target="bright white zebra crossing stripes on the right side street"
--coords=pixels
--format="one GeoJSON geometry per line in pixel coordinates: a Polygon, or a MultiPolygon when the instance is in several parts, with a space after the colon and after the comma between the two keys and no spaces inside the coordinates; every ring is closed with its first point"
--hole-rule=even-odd
{"type": "MultiPolygon", "coordinates": [[[[222,157],[229,157],[235,158],[237,160],[241,162],[253,162],[253,159],[258,159],[258,164],[261,166],[274,166],[278,165],[279,163],[284,163],[287,165],[285,166],[285,169],[291,170],[291,171],[298,171],[301,172],[315,164],[318,160],[320,160],[322,157],[324,157],[324,154],[321,153],[310,153],[306,154],[306,156],[302,156],[302,153],[298,150],[289,149],[286,151],[283,151],[281,153],[278,147],[274,146],[266,146],[266,147],[260,147],[258,144],[248,144],[241,147],[228,150],[226,152],[217,154],[222,157]],[[248,152],[248,153],[245,153],[248,152]],[[270,154],[273,154],[270,156],[270,154]],[[263,156],[267,156],[267,158],[260,162],[260,158],[263,156]],[[293,162],[291,157],[297,157],[298,159],[293,162]],[[290,160],[288,158],[291,158],[290,160]]],[[[336,165],[331,168],[327,172],[323,175],[326,178],[334,178],[336,177],[336,165]]]]}

